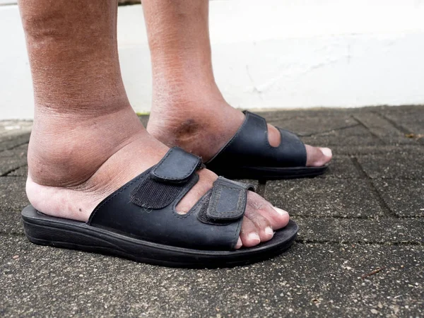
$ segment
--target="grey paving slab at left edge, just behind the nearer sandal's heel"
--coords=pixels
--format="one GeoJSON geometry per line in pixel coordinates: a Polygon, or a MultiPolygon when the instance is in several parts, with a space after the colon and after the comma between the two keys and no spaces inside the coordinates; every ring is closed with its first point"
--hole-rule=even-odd
{"type": "Polygon", "coordinates": [[[20,211],[28,204],[25,177],[0,177],[0,233],[22,233],[20,211]]]}

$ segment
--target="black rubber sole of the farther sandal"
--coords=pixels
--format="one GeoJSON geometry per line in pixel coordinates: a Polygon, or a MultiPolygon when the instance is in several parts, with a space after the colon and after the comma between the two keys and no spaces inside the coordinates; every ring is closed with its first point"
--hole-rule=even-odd
{"type": "MultiPolygon", "coordinates": [[[[207,166],[206,166],[207,167],[207,166]]],[[[322,175],[328,165],[322,167],[228,167],[210,168],[217,175],[222,175],[228,179],[259,179],[259,180],[280,180],[312,178],[322,175]]]]}

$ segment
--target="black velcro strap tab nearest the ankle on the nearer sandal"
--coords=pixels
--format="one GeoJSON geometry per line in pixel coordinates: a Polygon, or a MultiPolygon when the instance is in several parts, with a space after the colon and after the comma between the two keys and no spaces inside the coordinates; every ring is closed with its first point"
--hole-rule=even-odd
{"type": "Polygon", "coordinates": [[[182,148],[173,147],[155,165],[151,176],[162,182],[186,182],[201,167],[201,158],[182,148]]]}

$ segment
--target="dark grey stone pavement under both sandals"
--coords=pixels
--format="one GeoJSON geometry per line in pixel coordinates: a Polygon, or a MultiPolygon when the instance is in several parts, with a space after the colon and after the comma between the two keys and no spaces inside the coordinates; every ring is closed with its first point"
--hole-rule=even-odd
{"type": "Polygon", "coordinates": [[[424,107],[263,114],[334,161],[323,177],[258,184],[300,225],[288,252],[214,270],[30,244],[30,123],[0,123],[0,316],[424,317],[424,107]]]}

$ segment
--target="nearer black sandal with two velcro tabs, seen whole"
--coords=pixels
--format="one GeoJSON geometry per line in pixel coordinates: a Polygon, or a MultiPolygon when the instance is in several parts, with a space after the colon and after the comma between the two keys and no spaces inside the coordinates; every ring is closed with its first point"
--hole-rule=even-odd
{"type": "Polygon", "coordinates": [[[235,250],[249,184],[219,177],[187,214],[175,206],[196,184],[201,159],[172,148],[160,162],[104,199],[87,223],[22,211],[31,242],[112,254],[163,266],[218,267],[249,264],[281,254],[295,240],[290,220],[273,239],[235,250]]]}

